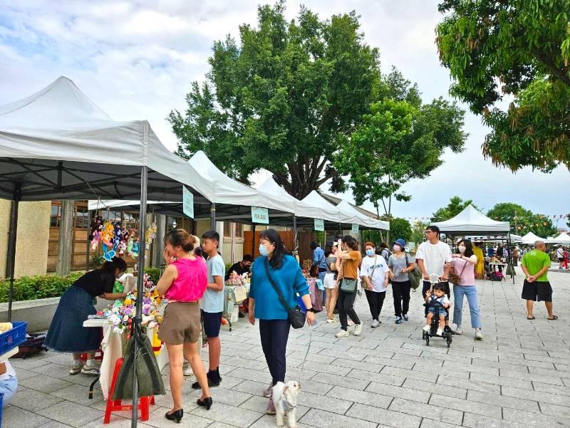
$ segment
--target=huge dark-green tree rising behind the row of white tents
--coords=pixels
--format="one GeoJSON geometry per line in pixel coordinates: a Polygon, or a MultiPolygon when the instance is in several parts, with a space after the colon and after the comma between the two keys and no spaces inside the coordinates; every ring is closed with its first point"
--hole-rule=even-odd
{"type": "Polygon", "coordinates": [[[328,180],[346,189],[333,154],[381,89],[378,50],[354,12],[321,20],[301,7],[286,21],[284,1],[259,6],[257,26],[214,43],[209,65],[187,109],[169,115],[179,155],[204,150],[242,182],[267,169],[299,199],[328,180]]]}

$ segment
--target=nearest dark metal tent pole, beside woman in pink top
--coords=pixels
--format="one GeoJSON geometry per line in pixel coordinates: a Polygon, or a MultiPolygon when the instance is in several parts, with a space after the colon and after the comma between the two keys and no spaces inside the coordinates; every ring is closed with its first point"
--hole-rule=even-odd
{"type": "MultiPolygon", "coordinates": [[[[137,276],[137,313],[133,320],[133,327],[140,325],[142,322],[142,280],[145,273],[145,229],[146,229],[146,214],[147,214],[147,181],[148,181],[148,167],[144,166],[140,169],[140,211],[139,211],[139,255],[138,255],[138,276],[137,276]]],[[[133,334],[137,335],[138,329],[133,328],[133,334]]],[[[138,353],[137,340],[133,342],[133,351],[135,356],[138,353]]],[[[138,407],[138,385],[137,385],[137,365],[133,364],[133,414],[130,422],[131,428],[137,427],[137,407],[138,407]]]]}

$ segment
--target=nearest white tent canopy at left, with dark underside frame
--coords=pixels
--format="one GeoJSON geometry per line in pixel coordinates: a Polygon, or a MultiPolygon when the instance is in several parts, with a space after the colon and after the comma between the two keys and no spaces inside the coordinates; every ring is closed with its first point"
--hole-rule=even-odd
{"type": "Polygon", "coordinates": [[[68,78],[0,107],[0,197],[13,199],[21,185],[21,200],[132,199],[142,166],[149,199],[182,200],[175,182],[199,182],[146,120],[112,120],[68,78]]]}

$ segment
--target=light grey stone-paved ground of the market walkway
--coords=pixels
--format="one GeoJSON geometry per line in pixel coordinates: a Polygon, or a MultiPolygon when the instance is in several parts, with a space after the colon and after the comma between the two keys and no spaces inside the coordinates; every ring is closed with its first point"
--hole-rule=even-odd
{"type": "MultiPolygon", "coordinates": [[[[410,321],[393,323],[388,291],[382,325],[369,327],[366,298],[358,313],[366,327],[361,337],[336,339],[338,325],[323,323],[309,335],[291,331],[287,375],[302,376],[299,427],[322,428],[522,428],[570,427],[570,276],[549,273],[559,320],[546,320],[544,305],[528,321],[520,296],[522,276],[511,281],[480,281],[484,340],[476,342],[464,308],[464,335],[450,349],[421,340],[419,293],[412,296],[410,321]]],[[[195,404],[197,392],[185,382],[181,427],[274,427],[264,415],[269,382],[256,327],[240,320],[222,334],[222,386],[213,391],[209,412],[195,404]]],[[[16,400],[4,409],[4,427],[103,427],[100,391],[87,399],[89,377],[68,375],[69,357],[48,353],[14,360],[20,380],[16,400]]],[[[165,367],[165,384],[167,385],[165,367]]],[[[151,418],[140,427],[167,427],[163,414],[169,396],[157,397],[151,418]]],[[[129,427],[129,414],[113,416],[113,427],[129,427]]],[[[174,426],[174,425],[172,425],[174,426]]]]}

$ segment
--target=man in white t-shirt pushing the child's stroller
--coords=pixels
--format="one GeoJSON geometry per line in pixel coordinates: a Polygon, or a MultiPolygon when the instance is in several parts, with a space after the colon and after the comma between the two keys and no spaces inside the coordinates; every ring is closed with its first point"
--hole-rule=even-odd
{"type": "MultiPolygon", "coordinates": [[[[427,226],[425,238],[427,241],[422,242],[415,253],[415,261],[418,262],[418,267],[423,274],[422,295],[425,296],[425,292],[430,289],[430,275],[435,273],[440,278],[440,283],[449,298],[449,274],[452,260],[450,246],[440,241],[440,228],[437,226],[427,226]]],[[[427,315],[427,308],[425,310],[427,315]]]]}

